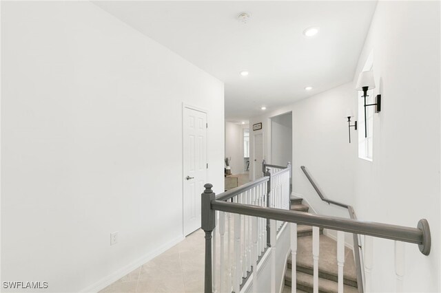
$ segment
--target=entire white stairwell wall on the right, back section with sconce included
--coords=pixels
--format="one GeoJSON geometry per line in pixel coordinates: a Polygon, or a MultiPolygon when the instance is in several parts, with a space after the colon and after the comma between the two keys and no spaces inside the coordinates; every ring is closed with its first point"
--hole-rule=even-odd
{"type": "MultiPolygon", "coordinates": [[[[372,50],[374,94],[382,94],[382,111],[373,122],[373,162],[358,159],[353,129],[348,143],[345,109],[356,113],[358,103],[352,82],[252,118],[250,124],[263,122],[265,158],[271,160],[269,117],[293,111],[293,188],[318,213],[347,217],[320,202],[301,165],[326,197],[353,205],[358,219],[411,227],[428,219],[431,254],[425,257],[416,245],[405,245],[404,290],[441,292],[440,3],[380,1],[354,81],[372,50]]],[[[373,292],[395,292],[393,241],[374,238],[372,277],[373,292]]]]}

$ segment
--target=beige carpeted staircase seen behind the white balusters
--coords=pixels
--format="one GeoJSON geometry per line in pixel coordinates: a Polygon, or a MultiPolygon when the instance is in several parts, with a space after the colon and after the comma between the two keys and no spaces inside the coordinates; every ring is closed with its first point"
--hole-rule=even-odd
{"type": "MultiPolygon", "coordinates": [[[[300,197],[291,196],[291,210],[308,213],[300,197]]],[[[297,292],[313,292],[312,227],[297,226],[297,292]]],[[[318,260],[318,291],[338,292],[337,242],[320,228],[320,257],[318,260]]],[[[287,261],[283,293],[291,292],[291,255],[287,261]]],[[[356,267],[351,249],[345,247],[344,292],[358,292],[356,267]]]]}

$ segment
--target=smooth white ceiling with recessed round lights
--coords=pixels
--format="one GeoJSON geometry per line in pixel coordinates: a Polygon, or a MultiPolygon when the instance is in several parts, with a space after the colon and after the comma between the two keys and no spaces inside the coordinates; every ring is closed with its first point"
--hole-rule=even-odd
{"type": "Polygon", "coordinates": [[[225,118],[247,120],[347,83],[376,1],[94,1],[225,83],[225,118]],[[250,15],[243,25],[236,17],[250,15]],[[306,38],[311,26],[320,32],[306,38]],[[243,70],[249,76],[240,76],[243,70]],[[305,91],[305,87],[314,89],[305,91]]]}

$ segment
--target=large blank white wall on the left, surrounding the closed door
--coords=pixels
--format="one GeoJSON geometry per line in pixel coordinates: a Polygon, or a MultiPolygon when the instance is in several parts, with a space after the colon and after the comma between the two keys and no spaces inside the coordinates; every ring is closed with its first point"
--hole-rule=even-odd
{"type": "Polygon", "coordinates": [[[92,3],[1,6],[1,281],[97,290],[183,238],[183,102],[223,191],[223,83],[92,3]]]}

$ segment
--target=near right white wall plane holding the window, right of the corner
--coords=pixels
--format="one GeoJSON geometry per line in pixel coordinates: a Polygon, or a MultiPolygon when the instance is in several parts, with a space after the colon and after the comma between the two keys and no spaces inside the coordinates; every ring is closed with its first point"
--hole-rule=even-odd
{"type": "MultiPolygon", "coordinates": [[[[405,245],[405,292],[440,287],[440,2],[378,1],[354,80],[373,52],[373,162],[358,159],[360,219],[416,227],[427,219],[431,253],[405,245]],[[430,28],[430,29],[428,29],[430,28]]],[[[395,291],[394,243],[373,238],[373,292],[395,291]]]]}

